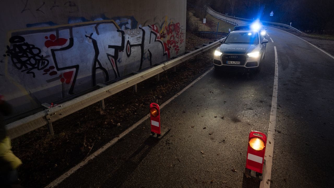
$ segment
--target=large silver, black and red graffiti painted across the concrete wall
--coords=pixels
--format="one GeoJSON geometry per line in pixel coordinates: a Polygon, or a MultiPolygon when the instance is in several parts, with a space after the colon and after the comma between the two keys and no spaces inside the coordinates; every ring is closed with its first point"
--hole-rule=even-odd
{"type": "Polygon", "coordinates": [[[43,103],[180,53],[185,42],[179,23],[137,24],[118,18],[12,32],[4,54],[12,65],[8,73],[43,103]]]}

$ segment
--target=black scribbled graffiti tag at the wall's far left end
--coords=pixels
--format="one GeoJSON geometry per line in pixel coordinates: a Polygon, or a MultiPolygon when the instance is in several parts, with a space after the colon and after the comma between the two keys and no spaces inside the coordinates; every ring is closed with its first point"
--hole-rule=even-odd
{"type": "Polygon", "coordinates": [[[7,55],[11,57],[14,67],[21,72],[32,74],[35,78],[34,69],[42,70],[48,66],[49,61],[40,55],[41,50],[33,44],[24,42],[23,36],[12,36],[9,42],[12,43],[12,49],[7,45],[7,55]]]}

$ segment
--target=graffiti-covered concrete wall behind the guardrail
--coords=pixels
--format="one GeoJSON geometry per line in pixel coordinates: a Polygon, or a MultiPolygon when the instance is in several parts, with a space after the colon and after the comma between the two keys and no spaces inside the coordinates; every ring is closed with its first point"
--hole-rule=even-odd
{"type": "Polygon", "coordinates": [[[16,114],[185,51],[186,0],[0,5],[0,94],[16,114]]]}

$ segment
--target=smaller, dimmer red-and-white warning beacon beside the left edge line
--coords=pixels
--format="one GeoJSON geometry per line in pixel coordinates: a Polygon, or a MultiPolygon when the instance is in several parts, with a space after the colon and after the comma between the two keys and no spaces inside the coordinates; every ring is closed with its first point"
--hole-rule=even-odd
{"type": "Polygon", "coordinates": [[[161,138],[164,134],[169,132],[170,128],[162,127],[160,123],[160,107],[157,103],[150,104],[151,114],[151,136],[161,138]]]}

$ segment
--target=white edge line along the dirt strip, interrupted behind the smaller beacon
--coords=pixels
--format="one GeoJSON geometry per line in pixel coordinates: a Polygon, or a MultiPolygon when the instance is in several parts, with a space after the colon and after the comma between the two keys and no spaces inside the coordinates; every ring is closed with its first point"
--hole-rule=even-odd
{"type": "MultiPolygon", "coordinates": [[[[200,80],[201,78],[203,78],[212,69],[213,69],[213,67],[210,68],[209,70],[207,70],[204,74],[202,74],[196,80],[194,80],[193,82],[191,82],[189,85],[187,85],[187,87],[183,88],[176,95],[174,95],[173,97],[171,97],[170,99],[168,99],[166,102],[164,102],[162,105],[160,105],[160,109],[163,108],[164,106],[166,106],[166,104],[168,104],[170,101],[172,101],[173,99],[175,99],[177,96],[179,96],[185,90],[187,90],[189,87],[191,87],[192,85],[194,85],[198,80],[200,80]]],[[[72,167],[71,169],[69,169],[67,172],[65,172],[63,175],[59,176],[57,179],[53,180],[45,188],[55,187],[58,184],[60,184],[62,181],[64,181],[66,178],[68,178],[70,175],[72,175],[75,171],[77,171],[79,168],[85,166],[89,161],[91,161],[92,159],[94,159],[95,157],[97,157],[98,155],[100,155],[102,152],[106,151],[109,147],[111,147],[112,145],[114,145],[119,139],[121,139],[123,136],[125,136],[126,134],[128,134],[131,130],[135,129],[138,125],[140,125],[142,122],[144,122],[149,117],[150,117],[150,113],[148,113],[147,115],[145,115],[137,123],[133,124],[131,127],[129,127],[128,129],[126,129],[124,132],[122,132],[119,135],[119,137],[115,137],[109,143],[107,143],[106,145],[104,145],[103,147],[101,147],[100,149],[98,149],[97,151],[95,151],[93,154],[91,154],[90,156],[88,156],[85,160],[83,160],[79,164],[77,164],[74,167],[72,167]]],[[[147,133],[147,135],[149,135],[149,132],[147,133]]]]}

